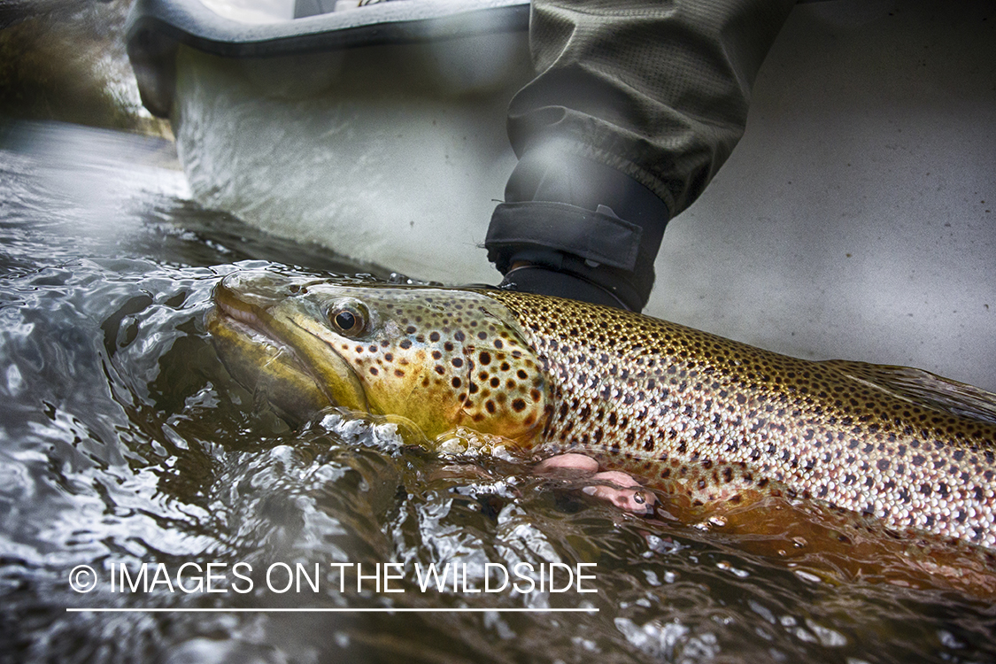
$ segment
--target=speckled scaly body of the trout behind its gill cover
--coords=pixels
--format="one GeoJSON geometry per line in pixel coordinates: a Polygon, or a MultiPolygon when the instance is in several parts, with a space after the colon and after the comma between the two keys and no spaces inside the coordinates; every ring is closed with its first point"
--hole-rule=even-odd
{"type": "Polygon", "coordinates": [[[894,529],[996,545],[992,424],[896,398],[832,362],[571,301],[487,295],[556,375],[544,434],[566,449],[687,478],[706,497],[773,480],[894,529]]]}

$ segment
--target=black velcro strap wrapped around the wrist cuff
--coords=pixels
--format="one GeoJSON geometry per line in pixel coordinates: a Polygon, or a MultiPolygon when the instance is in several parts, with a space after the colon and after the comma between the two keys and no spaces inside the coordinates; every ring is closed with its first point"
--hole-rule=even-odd
{"type": "Polygon", "coordinates": [[[501,203],[491,217],[484,246],[540,246],[631,272],[643,229],[605,210],[546,201],[501,203]]]}

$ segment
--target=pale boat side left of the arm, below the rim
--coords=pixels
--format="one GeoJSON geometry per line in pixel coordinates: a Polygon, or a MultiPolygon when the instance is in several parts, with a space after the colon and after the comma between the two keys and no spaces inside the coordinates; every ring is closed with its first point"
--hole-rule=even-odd
{"type": "Polygon", "coordinates": [[[176,63],[171,121],[203,204],[412,277],[494,281],[478,246],[516,162],[524,33],[267,60],[182,46],[176,63]],[[481,50],[494,67],[472,65],[481,50]]]}

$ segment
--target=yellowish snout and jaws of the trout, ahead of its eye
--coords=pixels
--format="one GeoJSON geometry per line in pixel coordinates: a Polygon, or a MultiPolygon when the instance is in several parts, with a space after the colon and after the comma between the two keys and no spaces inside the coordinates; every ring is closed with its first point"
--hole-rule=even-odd
{"type": "Polygon", "coordinates": [[[205,317],[214,346],[232,377],[291,419],[329,406],[365,410],[367,397],[353,368],[285,307],[295,282],[272,273],[233,273],[214,288],[205,317]],[[284,311],[286,310],[286,311],[284,311]]]}

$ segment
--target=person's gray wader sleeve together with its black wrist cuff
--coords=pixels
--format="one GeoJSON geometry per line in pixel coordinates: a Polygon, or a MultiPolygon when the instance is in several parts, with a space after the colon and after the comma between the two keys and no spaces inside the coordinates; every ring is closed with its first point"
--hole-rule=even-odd
{"type": "Polygon", "coordinates": [[[503,273],[519,261],[575,273],[641,309],[664,226],[743,134],[751,85],[793,4],[533,0],[539,75],[509,107],[520,163],[492,217],[489,259],[503,273]]]}

